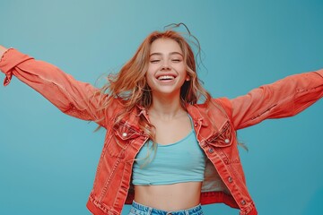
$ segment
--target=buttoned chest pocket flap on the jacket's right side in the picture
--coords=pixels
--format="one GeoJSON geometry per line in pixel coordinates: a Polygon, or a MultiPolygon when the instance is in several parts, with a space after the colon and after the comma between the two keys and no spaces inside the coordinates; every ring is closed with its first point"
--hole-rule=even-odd
{"type": "Polygon", "coordinates": [[[228,147],[233,142],[233,136],[230,123],[226,122],[218,133],[215,133],[206,140],[206,143],[212,147],[228,147]]]}

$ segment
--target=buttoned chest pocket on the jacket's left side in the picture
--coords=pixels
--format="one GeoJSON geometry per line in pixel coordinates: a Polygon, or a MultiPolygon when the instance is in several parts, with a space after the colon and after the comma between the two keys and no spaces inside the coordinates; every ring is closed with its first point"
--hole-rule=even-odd
{"type": "Polygon", "coordinates": [[[124,158],[127,147],[135,140],[140,133],[130,125],[120,122],[114,125],[110,132],[108,144],[109,155],[112,157],[124,158]]]}

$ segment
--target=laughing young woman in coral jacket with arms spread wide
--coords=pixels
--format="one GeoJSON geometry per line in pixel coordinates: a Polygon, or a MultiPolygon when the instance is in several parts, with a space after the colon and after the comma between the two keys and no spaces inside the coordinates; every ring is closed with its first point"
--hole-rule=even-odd
{"type": "Polygon", "coordinates": [[[4,85],[15,75],[65,114],[107,129],[87,203],[95,215],[120,214],[125,203],[132,203],[131,215],[196,215],[214,202],[258,214],[236,130],[294,116],[323,96],[320,70],[212,99],[198,81],[191,47],[173,30],[150,34],[101,90],[13,48],[0,50],[4,85]]]}

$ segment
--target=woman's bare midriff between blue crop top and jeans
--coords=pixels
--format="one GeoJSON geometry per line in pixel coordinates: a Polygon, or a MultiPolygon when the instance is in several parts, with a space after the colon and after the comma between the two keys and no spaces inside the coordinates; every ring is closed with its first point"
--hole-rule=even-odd
{"type": "Polygon", "coordinates": [[[202,182],[135,185],[135,202],[162,211],[179,211],[200,203],[202,182]]]}

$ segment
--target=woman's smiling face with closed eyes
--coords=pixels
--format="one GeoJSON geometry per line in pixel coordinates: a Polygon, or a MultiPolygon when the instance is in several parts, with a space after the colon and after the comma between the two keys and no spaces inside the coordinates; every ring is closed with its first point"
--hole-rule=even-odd
{"type": "Polygon", "coordinates": [[[153,95],[179,95],[181,86],[188,80],[188,74],[178,42],[173,39],[153,41],[146,80],[153,95]]]}

